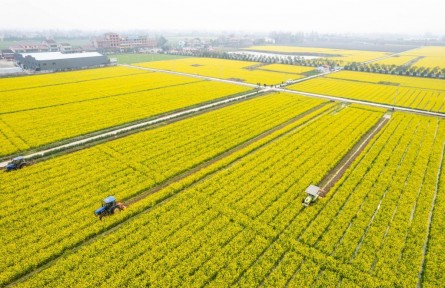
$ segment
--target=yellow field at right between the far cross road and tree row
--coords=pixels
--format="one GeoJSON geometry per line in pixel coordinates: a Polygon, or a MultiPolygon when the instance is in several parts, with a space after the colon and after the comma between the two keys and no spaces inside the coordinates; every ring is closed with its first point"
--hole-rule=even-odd
{"type": "Polygon", "coordinates": [[[331,74],[329,77],[316,78],[294,84],[288,88],[296,91],[312,92],[400,107],[445,112],[445,91],[422,88],[442,88],[444,84],[442,80],[420,78],[412,82],[410,80],[411,78],[404,76],[341,72],[331,74]],[[378,84],[380,82],[379,80],[384,80],[383,82],[387,83],[378,84]],[[434,85],[434,81],[438,83],[437,86],[434,85]],[[401,84],[401,86],[397,84],[401,84]]]}

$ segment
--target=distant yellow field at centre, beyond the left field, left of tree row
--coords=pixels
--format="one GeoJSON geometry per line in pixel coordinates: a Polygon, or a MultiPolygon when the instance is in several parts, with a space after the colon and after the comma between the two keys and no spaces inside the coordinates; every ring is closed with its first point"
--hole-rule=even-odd
{"type": "MultiPolygon", "coordinates": [[[[303,75],[289,74],[289,71],[280,71],[279,66],[275,66],[275,71],[265,71],[257,67],[260,63],[248,61],[235,61],[224,59],[209,59],[209,58],[185,58],[174,61],[156,61],[148,63],[136,64],[141,67],[156,68],[163,70],[179,71],[184,73],[210,76],[221,79],[231,79],[251,84],[261,83],[261,85],[275,85],[280,84],[289,79],[303,78],[303,75]],[[278,69],[277,69],[278,68],[278,69]]],[[[305,68],[294,68],[293,71],[306,70],[305,68]]],[[[286,69],[287,70],[287,69],[286,69]]],[[[310,69],[313,70],[313,69],[310,69]]]]}

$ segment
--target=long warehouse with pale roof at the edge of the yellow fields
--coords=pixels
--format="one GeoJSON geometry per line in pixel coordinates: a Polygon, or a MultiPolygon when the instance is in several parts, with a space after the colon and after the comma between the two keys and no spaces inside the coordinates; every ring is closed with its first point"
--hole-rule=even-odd
{"type": "Polygon", "coordinates": [[[69,54],[61,52],[17,53],[15,54],[15,60],[23,69],[35,71],[74,70],[110,64],[108,57],[98,52],[69,54]]]}

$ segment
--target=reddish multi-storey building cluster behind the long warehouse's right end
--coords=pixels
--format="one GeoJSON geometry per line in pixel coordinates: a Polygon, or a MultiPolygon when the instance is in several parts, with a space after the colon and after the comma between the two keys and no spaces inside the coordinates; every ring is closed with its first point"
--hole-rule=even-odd
{"type": "Polygon", "coordinates": [[[92,40],[94,47],[101,52],[141,52],[157,47],[155,38],[148,36],[127,36],[118,33],[105,33],[92,40]]]}

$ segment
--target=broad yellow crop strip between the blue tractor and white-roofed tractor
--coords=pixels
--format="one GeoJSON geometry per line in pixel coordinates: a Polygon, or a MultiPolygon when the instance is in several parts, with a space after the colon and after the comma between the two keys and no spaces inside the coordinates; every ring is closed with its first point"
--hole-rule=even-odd
{"type": "MultiPolygon", "coordinates": [[[[269,224],[275,223],[277,215],[301,213],[306,186],[322,179],[381,115],[344,108],[311,122],[291,124],[292,129],[283,128],[286,133],[274,135],[270,142],[246,147],[250,152],[245,156],[218,161],[226,164],[215,163],[223,168],[217,173],[198,172],[210,174],[202,181],[193,180],[186,189],[175,183],[176,194],[168,198],[164,193],[173,192],[153,195],[164,199],[163,204],[151,206],[22,284],[252,286],[279,277],[283,269],[275,268],[280,267],[280,259],[302,259],[301,268],[301,261],[295,262],[283,276],[296,287],[319,267],[314,258],[300,256],[287,240],[279,240],[283,230],[269,224]],[[103,254],[110,249],[122,253],[114,254],[110,261],[103,254]],[[263,261],[268,264],[260,265],[263,261]]],[[[128,213],[153,202],[159,203],[141,200],[128,213]]],[[[282,218],[275,224],[284,222],[282,218]]],[[[334,275],[333,262],[326,262],[325,270],[318,279],[314,277],[320,285],[332,277],[337,281],[348,278],[344,272],[341,277],[334,275]]],[[[316,276],[313,274],[310,277],[316,276]]]]}

